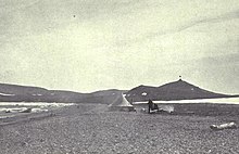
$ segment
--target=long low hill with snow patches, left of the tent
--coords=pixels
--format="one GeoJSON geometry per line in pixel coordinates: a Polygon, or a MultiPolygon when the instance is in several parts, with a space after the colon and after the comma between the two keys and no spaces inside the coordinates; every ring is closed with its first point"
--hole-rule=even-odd
{"type": "Polygon", "coordinates": [[[0,84],[0,102],[63,102],[110,104],[116,94],[124,91],[112,89],[92,93],[64,90],[48,90],[39,87],[0,84]]]}

